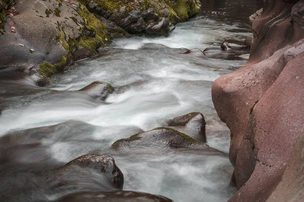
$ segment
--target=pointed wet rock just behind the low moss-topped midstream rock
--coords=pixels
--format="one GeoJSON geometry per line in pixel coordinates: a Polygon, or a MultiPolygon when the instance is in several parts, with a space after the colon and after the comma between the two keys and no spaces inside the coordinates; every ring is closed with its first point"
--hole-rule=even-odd
{"type": "Polygon", "coordinates": [[[168,120],[167,124],[196,140],[206,142],[206,121],[202,113],[192,112],[179,116],[168,120]]]}

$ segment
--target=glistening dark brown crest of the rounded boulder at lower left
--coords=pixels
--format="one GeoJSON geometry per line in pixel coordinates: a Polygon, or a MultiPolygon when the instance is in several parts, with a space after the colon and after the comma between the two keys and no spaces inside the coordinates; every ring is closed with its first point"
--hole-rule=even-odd
{"type": "Polygon", "coordinates": [[[104,173],[105,176],[111,181],[115,188],[120,190],[124,186],[124,175],[122,171],[117,167],[112,157],[106,155],[88,154],[74,159],[67,163],[60,169],[69,169],[72,166],[79,166],[82,168],[91,168],[100,173],[104,173]]]}

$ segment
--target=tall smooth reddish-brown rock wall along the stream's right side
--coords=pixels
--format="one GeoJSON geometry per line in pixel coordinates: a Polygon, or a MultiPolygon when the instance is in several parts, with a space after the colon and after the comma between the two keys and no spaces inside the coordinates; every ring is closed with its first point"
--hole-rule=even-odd
{"type": "Polygon", "coordinates": [[[265,201],[282,179],[303,130],[304,1],[264,1],[248,63],[215,80],[212,99],[231,130],[230,201],[265,201]]]}

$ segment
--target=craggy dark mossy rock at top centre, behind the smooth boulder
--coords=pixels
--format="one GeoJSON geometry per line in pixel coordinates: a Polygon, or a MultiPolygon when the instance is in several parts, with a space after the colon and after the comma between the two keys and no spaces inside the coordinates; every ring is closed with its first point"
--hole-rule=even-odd
{"type": "Polygon", "coordinates": [[[79,0],[89,11],[135,34],[169,35],[175,24],[199,13],[200,1],[79,0]]]}

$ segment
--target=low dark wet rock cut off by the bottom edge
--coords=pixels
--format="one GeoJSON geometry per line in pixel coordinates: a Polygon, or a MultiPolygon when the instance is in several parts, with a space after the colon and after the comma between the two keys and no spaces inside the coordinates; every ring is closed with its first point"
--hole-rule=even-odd
{"type": "Polygon", "coordinates": [[[135,191],[79,192],[64,196],[58,202],[173,202],[160,195],[135,191]]]}

